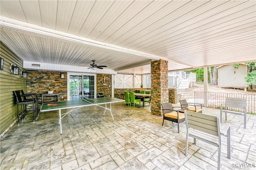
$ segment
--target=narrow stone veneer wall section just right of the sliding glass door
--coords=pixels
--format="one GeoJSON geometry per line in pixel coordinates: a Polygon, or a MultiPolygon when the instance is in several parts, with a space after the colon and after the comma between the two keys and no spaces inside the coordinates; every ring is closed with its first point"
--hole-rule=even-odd
{"type": "Polygon", "coordinates": [[[103,93],[104,97],[111,97],[111,75],[110,74],[97,74],[97,92],[96,93],[103,93]],[[105,83],[103,85],[103,79],[106,78],[105,83]],[[110,87],[109,87],[110,85],[110,87]]]}

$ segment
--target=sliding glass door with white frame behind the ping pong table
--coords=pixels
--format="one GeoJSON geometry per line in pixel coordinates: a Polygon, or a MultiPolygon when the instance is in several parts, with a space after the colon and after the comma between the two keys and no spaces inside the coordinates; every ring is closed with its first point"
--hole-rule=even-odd
{"type": "Polygon", "coordinates": [[[82,96],[96,96],[96,75],[68,74],[68,100],[81,100],[82,96]]]}

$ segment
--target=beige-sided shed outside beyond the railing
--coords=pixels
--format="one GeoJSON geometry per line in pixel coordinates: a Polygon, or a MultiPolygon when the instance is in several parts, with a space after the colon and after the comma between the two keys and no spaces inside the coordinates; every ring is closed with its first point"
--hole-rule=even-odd
{"type": "Polygon", "coordinates": [[[218,85],[219,87],[229,88],[246,88],[245,77],[247,76],[247,65],[240,64],[239,68],[234,68],[233,65],[218,66],[218,85]]]}

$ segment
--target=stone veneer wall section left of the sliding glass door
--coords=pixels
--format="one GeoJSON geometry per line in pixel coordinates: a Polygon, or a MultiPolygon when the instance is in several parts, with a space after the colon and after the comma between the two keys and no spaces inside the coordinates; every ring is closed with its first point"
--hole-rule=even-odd
{"type": "MultiPolygon", "coordinates": [[[[38,94],[39,104],[42,104],[41,94],[53,91],[59,94],[59,101],[67,100],[67,72],[64,73],[64,78],[60,78],[60,72],[44,71],[44,70],[26,70],[28,78],[26,78],[26,93],[38,94]]],[[[54,100],[45,98],[45,100],[54,100]]],[[[50,101],[48,101],[50,102],[50,101]]]]}

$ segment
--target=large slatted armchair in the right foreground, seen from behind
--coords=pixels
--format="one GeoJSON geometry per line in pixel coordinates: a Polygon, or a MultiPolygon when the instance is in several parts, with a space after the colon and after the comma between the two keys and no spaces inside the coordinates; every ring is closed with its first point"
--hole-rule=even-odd
{"type": "Polygon", "coordinates": [[[222,135],[227,137],[227,156],[230,158],[230,123],[227,123],[222,131],[220,131],[220,118],[211,115],[205,115],[194,111],[185,110],[186,121],[186,146],[185,155],[188,154],[188,137],[204,141],[218,147],[218,170],[220,169],[222,135]]]}

